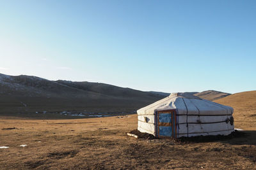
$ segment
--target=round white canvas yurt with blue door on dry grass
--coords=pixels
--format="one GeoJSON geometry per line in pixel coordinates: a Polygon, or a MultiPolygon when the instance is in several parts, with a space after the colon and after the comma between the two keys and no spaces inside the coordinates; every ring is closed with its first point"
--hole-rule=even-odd
{"type": "Polygon", "coordinates": [[[137,111],[138,131],[158,138],[228,135],[234,131],[233,108],[173,93],[137,111]]]}

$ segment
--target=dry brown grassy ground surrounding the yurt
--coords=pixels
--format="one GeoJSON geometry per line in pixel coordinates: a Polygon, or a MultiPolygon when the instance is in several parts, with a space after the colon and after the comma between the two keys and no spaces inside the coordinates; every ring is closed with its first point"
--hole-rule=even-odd
{"type": "Polygon", "coordinates": [[[223,101],[235,108],[235,125],[244,135],[187,143],[127,136],[137,127],[137,115],[72,120],[2,115],[0,146],[10,148],[0,149],[0,169],[256,169],[256,104],[234,103],[223,101]]]}

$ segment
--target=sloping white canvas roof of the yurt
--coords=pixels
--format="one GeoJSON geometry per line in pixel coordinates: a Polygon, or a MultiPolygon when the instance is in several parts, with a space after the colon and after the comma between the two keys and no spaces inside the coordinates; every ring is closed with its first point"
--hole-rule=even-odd
{"type": "Polygon", "coordinates": [[[232,115],[230,106],[214,103],[190,93],[173,93],[137,111],[138,115],[154,115],[155,111],[176,109],[177,115],[232,115]]]}

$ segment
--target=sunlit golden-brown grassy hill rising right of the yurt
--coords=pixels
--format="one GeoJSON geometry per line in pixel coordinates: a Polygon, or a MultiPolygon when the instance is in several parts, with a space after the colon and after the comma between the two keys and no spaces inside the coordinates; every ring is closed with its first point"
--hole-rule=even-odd
{"type": "Polygon", "coordinates": [[[232,94],[214,102],[234,108],[235,126],[252,130],[256,128],[256,90],[232,94]]]}

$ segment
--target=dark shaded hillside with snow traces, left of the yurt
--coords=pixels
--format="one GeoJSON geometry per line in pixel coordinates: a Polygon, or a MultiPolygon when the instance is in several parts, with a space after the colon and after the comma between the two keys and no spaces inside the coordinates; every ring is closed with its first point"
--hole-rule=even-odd
{"type": "Polygon", "coordinates": [[[0,113],[35,111],[134,111],[163,96],[104,83],[50,81],[0,74],[0,113]]]}

